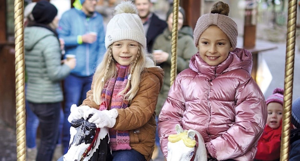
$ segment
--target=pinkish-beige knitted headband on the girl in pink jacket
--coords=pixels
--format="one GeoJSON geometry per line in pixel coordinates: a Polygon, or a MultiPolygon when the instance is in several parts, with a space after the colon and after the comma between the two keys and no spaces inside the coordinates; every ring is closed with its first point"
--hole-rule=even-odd
{"type": "Polygon", "coordinates": [[[230,17],[217,13],[208,13],[199,17],[194,30],[196,47],[201,34],[211,25],[218,26],[228,36],[233,49],[237,47],[237,24],[230,17]]]}

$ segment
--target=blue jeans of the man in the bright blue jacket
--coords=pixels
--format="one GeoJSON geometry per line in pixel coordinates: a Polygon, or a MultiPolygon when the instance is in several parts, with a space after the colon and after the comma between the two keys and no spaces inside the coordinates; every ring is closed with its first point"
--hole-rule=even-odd
{"type": "Polygon", "coordinates": [[[63,121],[63,149],[64,154],[68,152],[70,142],[70,127],[71,124],[68,121],[68,117],[71,113],[70,108],[73,104],[77,106],[81,105],[83,100],[87,96],[88,90],[91,89],[93,76],[78,77],[75,75],[68,75],[64,80],[64,121],[63,121]]]}

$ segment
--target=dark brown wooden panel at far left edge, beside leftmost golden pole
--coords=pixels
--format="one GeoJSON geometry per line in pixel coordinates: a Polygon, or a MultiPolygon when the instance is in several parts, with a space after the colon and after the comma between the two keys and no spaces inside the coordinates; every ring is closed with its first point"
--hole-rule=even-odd
{"type": "Polygon", "coordinates": [[[7,41],[7,1],[0,4],[0,120],[16,127],[14,42],[7,41]]]}

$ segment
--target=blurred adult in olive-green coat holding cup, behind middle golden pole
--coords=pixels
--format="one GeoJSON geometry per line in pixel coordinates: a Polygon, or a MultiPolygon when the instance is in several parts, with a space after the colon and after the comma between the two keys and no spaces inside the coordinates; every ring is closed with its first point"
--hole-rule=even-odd
{"type": "MultiPolygon", "coordinates": [[[[188,68],[191,57],[197,53],[197,48],[194,45],[193,30],[190,26],[183,26],[185,20],[185,11],[182,7],[179,7],[178,12],[178,43],[177,43],[177,73],[180,73],[184,69],[188,68]]],[[[167,24],[162,34],[160,34],[154,41],[153,44],[153,56],[157,64],[161,66],[165,72],[163,77],[163,88],[160,90],[158,96],[158,102],[156,104],[156,119],[160,110],[163,107],[163,103],[168,97],[170,90],[170,79],[171,79],[171,57],[172,57],[172,29],[173,29],[173,7],[167,12],[167,24]]],[[[156,131],[157,132],[157,131],[156,131]]],[[[159,150],[159,138],[156,133],[156,148],[159,150]]],[[[155,159],[157,151],[153,152],[153,159],[155,159]]]]}

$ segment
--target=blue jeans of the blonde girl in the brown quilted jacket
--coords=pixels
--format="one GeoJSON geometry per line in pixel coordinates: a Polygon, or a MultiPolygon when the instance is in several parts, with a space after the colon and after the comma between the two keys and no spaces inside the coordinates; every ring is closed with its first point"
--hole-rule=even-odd
{"type": "MultiPolygon", "coordinates": [[[[145,161],[144,155],[136,150],[118,150],[113,151],[113,161],[145,161]]],[[[57,161],[63,161],[63,156],[57,161]]]]}

